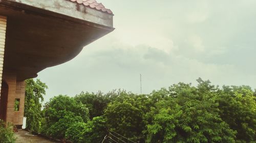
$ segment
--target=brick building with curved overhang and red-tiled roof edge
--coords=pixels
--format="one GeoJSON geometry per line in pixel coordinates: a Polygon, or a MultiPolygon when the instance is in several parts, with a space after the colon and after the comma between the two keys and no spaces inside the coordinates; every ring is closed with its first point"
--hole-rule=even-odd
{"type": "Polygon", "coordinates": [[[22,125],[25,80],[113,30],[112,11],[95,0],[0,0],[0,119],[22,125]]]}

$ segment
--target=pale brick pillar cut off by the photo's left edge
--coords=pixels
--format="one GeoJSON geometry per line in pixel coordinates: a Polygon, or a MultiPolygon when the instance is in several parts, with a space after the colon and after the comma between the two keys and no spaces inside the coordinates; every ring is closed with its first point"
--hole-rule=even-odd
{"type": "Polygon", "coordinates": [[[3,74],[3,66],[4,66],[6,25],[7,25],[7,17],[0,15],[0,93],[1,93],[2,74],[3,74]]]}

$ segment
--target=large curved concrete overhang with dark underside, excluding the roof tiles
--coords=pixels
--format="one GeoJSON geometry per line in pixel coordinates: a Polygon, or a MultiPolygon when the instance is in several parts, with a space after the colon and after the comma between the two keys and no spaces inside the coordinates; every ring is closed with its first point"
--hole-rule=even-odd
{"type": "Polygon", "coordinates": [[[0,15],[8,17],[4,69],[18,80],[73,59],[114,30],[113,14],[69,0],[0,0],[0,15]]]}

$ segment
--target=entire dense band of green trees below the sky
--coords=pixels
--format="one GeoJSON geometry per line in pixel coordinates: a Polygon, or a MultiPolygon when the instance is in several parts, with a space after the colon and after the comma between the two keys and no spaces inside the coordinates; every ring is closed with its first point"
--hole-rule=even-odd
{"type": "Polygon", "coordinates": [[[59,95],[40,111],[37,101],[47,87],[37,80],[39,87],[32,87],[37,90],[30,84],[26,90],[26,95],[30,91],[36,96],[35,103],[27,103],[27,109],[35,109],[27,113],[33,123],[28,128],[78,143],[101,142],[105,135],[118,140],[118,134],[142,143],[256,142],[256,92],[247,86],[219,88],[201,78],[197,81],[196,87],[178,83],[149,95],[121,90],[59,95]]]}

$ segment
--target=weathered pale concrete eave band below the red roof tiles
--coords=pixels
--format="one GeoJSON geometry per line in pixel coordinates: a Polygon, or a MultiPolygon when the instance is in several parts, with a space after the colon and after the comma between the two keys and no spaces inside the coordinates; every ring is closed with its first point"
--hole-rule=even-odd
{"type": "Polygon", "coordinates": [[[71,3],[70,1],[53,0],[29,1],[29,0],[0,0],[0,5],[12,7],[26,12],[46,14],[62,20],[84,23],[113,31],[113,14],[97,11],[92,8],[71,3]],[[20,2],[19,2],[20,1],[20,2]],[[56,6],[58,4],[58,6],[56,6]]]}

